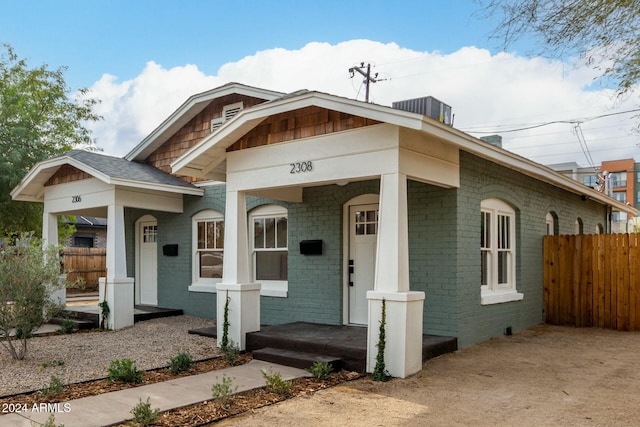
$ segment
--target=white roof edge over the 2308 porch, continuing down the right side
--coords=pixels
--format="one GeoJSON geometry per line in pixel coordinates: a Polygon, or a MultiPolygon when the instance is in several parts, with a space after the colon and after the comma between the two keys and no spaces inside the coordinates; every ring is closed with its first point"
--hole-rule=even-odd
{"type": "Polygon", "coordinates": [[[422,114],[314,91],[296,92],[242,110],[232,120],[224,123],[216,132],[202,139],[176,159],[171,164],[172,171],[188,176],[220,179],[221,175],[226,173],[226,150],[235,141],[271,115],[310,106],[340,111],[423,132],[430,137],[453,144],[461,150],[506,168],[519,171],[542,182],[574,194],[588,196],[600,203],[612,206],[615,210],[632,215],[637,215],[638,213],[635,208],[561,175],[546,166],[501,147],[488,144],[422,114]]]}

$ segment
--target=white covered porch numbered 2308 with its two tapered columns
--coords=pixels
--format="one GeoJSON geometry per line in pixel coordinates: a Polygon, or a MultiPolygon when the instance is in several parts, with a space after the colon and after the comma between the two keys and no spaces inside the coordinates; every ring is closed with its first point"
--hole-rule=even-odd
{"type": "MultiPolygon", "coordinates": [[[[261,284],[251,274],[247,245],[247,197],[308,206],[306,189],[375,180],[379,182],[375,193],[361,193],[343,206],[342,323],[365,326],[361,331],[366,335],[366,371],[371,372],[384,306],[388,370],[396,377],[411,375],[422,366],[425,292],[410,285],[408,181],[443,188],[459,186],[458,150],[437,137],[403,127],[415,124],[422,129],[421,116],[410,117],[415,123],[409,123],[398,120],[396,112],[376,111],[373,119],[371,106],[363,108],[317,93],[301,96],[296,102],[288,106],[288,100],[283,100],[283,105],[274,102],[239,113],[171,165],[174,173],[226,182],[223,276],[216,285],[218,339],[225,315],[229,337],[242,350],[249,348],[253,333],[262,331],[261,284]],[[360,116],[358,122],[365,125],[299,138],[294,131],[293,138],[286,141],[278,133],[285,118],[289,124],[308,122],[312,126],[317,122],[320,126],[337,117],[335,110],[360,116]],[[353,248],[349,246],[352,241],[353,248]],[[361,261],[357,252],[362,248],[366,255],[361,261]],[[362,265],[367,268],[359,272],[362,265]]],[[[332,225],[339,228],[340,222],[332,225]]],[[[290,309],[304,310],[304,306],[302,302],[290,309]]]]}

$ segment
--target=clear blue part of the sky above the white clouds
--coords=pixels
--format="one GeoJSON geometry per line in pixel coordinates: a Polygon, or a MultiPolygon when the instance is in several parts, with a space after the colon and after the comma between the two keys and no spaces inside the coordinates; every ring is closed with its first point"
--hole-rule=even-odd
{"type": "Polygon", "coordinates": [[[300,49],[314,41],[369,39],[417,51],[495,51],[490,21],[474,16],[478,10],[473,0],[2,0],[0,40],[34,65],[69,67],[68,83],[77,88],[91,86],[104,73],[133,78],[147,61],[168,68],[197,64],[215,73],[260,50],[300,49]]]}

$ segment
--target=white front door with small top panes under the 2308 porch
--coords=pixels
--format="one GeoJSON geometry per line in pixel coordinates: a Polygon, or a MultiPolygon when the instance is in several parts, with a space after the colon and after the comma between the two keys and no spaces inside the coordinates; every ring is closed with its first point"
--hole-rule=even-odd
{"type": "Polygon", "coordinates": [[[378,205],[349,206],[349,323],[367,324],[367,291],[373,290],[378,205]]]}

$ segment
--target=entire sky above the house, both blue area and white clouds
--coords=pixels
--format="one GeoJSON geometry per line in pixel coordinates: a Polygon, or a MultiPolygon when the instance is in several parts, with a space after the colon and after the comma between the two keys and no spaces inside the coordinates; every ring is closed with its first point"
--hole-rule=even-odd
{"type": "Polygon", "coordinates": [[[29,64],[67,66],[70,88],[88,87],[104,120],[92,126],[106,153],[124,155],[188,96],[228,81],[283,92],[301,88],[363,99],[347,69],[371,62],[386,81],[372,101],[432,95],[452,105],[456,127],[496,132],[504,147],[540,163],[587,165],[638,156],[630,114],[579,61],[506,52],[490,19],[467,1],[32,1],[0,0],[0,43],[29,64]],[[503,133],[504,132],[504,133],[503,133]]]}

